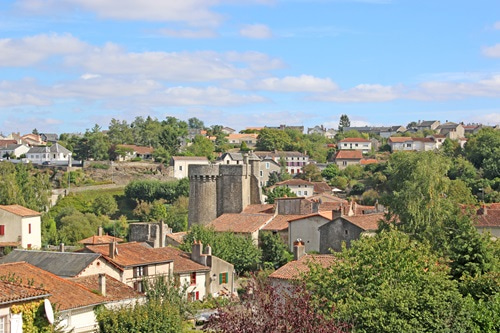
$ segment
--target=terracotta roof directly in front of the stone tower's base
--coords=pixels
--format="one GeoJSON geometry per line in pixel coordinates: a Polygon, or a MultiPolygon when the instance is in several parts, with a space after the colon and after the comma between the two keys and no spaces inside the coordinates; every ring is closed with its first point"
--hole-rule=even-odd
{"type": "Polygon", "coordinates": [[[272,219],[269,214],[222,214],[208,226],[218,232],[253,233],[272,219]]]}

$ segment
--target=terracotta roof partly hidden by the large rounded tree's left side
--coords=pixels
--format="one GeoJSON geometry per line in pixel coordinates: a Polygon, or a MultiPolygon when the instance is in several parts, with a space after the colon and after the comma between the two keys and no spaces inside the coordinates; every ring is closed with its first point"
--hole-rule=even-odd
{"type": "Polygon", "coordinates": [[[335,263],[332,254],[306,254],[299,260],[290,261],[269,275],[271,279],[298,280],[302,274],[309,272],[309,265],[319,264],[326,268],[335,263]]]}

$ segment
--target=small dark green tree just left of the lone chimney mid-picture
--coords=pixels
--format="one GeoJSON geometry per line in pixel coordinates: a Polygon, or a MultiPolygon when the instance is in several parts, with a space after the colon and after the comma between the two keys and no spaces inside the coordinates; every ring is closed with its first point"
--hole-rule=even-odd
{"type": "Polygon", "coordinates": [[[288,246],[278,233],[264,231],[259,233],[259,244],[262,250],[262,264],[264,267],[277,269],[292,260],[288,246]]]}

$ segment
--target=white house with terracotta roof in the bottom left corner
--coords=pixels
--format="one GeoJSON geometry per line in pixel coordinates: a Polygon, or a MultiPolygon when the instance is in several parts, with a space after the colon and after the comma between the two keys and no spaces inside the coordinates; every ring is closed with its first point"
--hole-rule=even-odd
{"type": "Polygon", "coordinates": [[[47,290],[29,285],[29,281],[0,280],[0,332],[22,332],[23,314],[12,312],[12,306],[29,306],[49,296],[47,290]]]}

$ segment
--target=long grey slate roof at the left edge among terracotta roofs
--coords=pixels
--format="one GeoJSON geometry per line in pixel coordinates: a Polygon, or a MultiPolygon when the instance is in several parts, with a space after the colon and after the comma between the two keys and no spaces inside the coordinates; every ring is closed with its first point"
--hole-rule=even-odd
{"type": "Polygon", "coordinates": [[[0,263],[25,261],[60,277],[75,277],[101,255],[98,253],[14,250],[0,263]]]}

